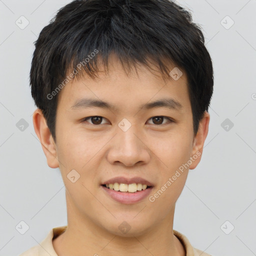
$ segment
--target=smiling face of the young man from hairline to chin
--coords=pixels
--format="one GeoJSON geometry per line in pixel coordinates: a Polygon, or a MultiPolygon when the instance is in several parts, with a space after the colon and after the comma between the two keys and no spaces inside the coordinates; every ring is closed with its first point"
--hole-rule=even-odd
{"type": "Polygon", "coordinates": [[[206,122],[204,133],[197,140],[193,136],[186,82],[184,72],[163,81],[144,66],[127,76],[112,56],[108,75],[73,80],[61,89],[52,148],[56,157],[45,154],[49,166],[60,168],[74,218],[126,236],[173,218],[207,133],[206,122]],[[110,189],[109,183],[121,185],[110,189]],[[115,190],[127,187],[140,190],[115,190]],[[125,233],[123,227],[130,230],[125,233]]]}

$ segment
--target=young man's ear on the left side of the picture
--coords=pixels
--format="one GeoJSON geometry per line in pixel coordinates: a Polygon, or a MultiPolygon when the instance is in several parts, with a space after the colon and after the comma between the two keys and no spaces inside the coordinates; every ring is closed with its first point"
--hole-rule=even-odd
{"type": "Polygon", "coordinates": [[[51,168],[59,167],[55,142],[39,108],[33,112],[33,125],[34,131],[41,142],[48,166],[51,168]]]}

